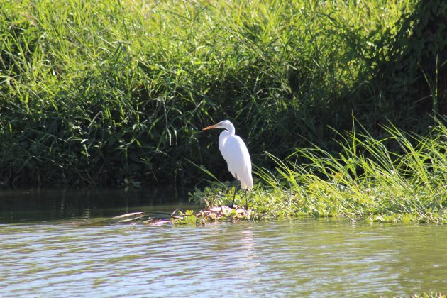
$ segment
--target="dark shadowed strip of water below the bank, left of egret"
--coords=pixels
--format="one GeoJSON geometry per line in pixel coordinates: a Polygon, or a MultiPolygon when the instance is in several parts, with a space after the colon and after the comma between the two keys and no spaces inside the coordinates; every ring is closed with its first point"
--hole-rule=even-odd
{"type": "Polygon", "coordinates": [[[111,218],[145,212],[170,218],[177,208],[192,209],[187,191],[163,189],[32,189],[0,191],[0,223],[111,218]]]}

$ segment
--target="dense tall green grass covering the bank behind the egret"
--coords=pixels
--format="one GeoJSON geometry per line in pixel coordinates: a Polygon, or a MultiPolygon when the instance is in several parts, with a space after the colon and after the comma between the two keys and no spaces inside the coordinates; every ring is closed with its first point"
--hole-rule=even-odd
{"type": "Polygon", "coordinates": [[[336,131],[352,115],[372,137],[388,123],[426,134],[446,106],[446,11],[441,0],[0,0],[0,181],[194,185],[193,163],[226,180],[217,136],[201,133],[223,118],[271,169],[264,151],[343,151],[336,131]]]}

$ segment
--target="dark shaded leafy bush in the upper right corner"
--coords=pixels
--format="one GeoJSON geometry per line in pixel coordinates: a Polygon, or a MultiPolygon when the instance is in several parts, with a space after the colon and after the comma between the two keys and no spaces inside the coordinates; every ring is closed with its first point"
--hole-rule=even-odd
{"type": "Polygon", "coordinates": [[[447,114],[447,2],[419,1],[399,31],[383,40],[387,52],[377,67],[379,86],[390,108],[405,116],[397,123],[424,131],[421,116],[447,114]]]}

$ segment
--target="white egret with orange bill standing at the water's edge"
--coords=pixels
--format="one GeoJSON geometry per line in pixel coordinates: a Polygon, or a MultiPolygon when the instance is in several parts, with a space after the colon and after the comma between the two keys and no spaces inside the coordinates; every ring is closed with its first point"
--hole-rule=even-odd
{"type": "Polygon", "coordinates": [[[234,181],[234,196],[231,207],[234,206],[236,199],[236,190],[238,189],[238,180],[241,182],[241,188],[245,189],[245,205],[248,209],[248,199],[246,190],[253,188],[253,177],[251,177],[251,160],[247,146],[243,143],[240,136],[235,135],[233,123],[228,120],[204,128],[204,131],[211,128],[223,128],[219,136],[219,150],[221,150],[223,159],[226,160],[228,171],[236,179],[234,181]]]}

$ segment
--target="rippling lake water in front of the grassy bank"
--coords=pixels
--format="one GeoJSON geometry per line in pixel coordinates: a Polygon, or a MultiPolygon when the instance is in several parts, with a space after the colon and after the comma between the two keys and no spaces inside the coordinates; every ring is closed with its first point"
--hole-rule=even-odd
{"type": "Polygon", "coordinates": [[[2,192],[0,297],[447,292],[445,226],[344,219],[104,224],[133,211],[168,217],[187,204],[163,192],[2,192]]]}

